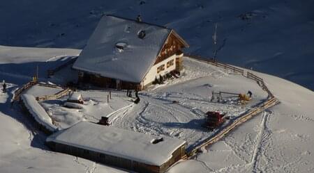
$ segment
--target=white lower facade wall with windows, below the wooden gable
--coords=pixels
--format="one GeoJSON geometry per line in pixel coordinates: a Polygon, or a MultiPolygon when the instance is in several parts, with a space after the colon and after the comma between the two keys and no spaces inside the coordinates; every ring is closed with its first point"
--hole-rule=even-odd
{"type": "Polygon", "coordinates": [[[178,58],[176,54],[173,56],[170,56],[169,58],[159,62],[158,64],[154,65],[149,69],[149,72],[144,77],[144,80],[142,81],[142,85],[145,86],[153,81],[155,81],[156,77],[159,78],[159,75],[164,76],[165,74],[171,72],[172,70],[176,69],[176,58],[178,58]],[[167,67],[167,62],[170,60],[174,60],[174,65],[171,65],[170,67],[167,67]],[[165,69],[157,73],[157,68],[160,65],[165,65],[165,69]]]}

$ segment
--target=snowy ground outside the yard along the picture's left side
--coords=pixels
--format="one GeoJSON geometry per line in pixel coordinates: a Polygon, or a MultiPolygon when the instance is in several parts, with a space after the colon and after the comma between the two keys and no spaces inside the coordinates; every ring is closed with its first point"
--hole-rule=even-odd
{"type": "MultiPolygon", "coordinates": [[[[0,93],[0,172],[124,172],[98,163],[49,151],[44,142],[46,135],[34,128],[18,106],[10,106],[17,86],[31,79],[31,69],[59,55],[75,55],[71,49],[29,49],[0,47],[0,79],[8,82],[8,92],[0,93]],[[2,69],[6,69],[3,72],[2,69]]],[[[50,63],[43,63],[47,68],[50,63]]],[[[33,71],[35,72],[35,71],[33,71]]]]}

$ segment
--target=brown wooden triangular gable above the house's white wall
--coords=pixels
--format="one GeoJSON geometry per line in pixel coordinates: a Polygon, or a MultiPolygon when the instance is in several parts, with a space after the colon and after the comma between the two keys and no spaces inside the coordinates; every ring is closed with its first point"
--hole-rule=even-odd
{"type": "Polygon", "coordinates": [[[179,40],[179,38],[176,37],[176,35],[174,35],[174,33],[171,32],[165,41],[165,44],[163,44],[163,48],[160,50],[155,64],[160,63],[178,52],[181,52],[183,47],[185,47],[185,45],[179,40]]]}

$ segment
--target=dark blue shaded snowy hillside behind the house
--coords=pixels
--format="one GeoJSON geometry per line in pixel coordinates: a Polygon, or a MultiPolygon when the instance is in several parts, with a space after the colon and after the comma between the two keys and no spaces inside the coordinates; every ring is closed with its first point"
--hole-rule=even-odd
{"type": "Polygon", "coordinates": [[[218,59],[281,76],[314,90],[314,1],[4,1],[0,44],[82,49],[101,15],[169,26],[190,53],[212,55],[218,23],[218,59]]]}

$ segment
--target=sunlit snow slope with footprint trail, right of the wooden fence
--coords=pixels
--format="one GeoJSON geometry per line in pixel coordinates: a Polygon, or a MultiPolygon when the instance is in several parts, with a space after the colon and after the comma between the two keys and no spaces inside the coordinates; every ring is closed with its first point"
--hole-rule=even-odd
{"type": "Polygon", "coordinates": [[[313,92],[259,75],[281,104],[239,126],[194,160],[175,165],[170,173],[314,171],[313,92]]]}

